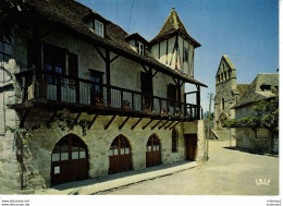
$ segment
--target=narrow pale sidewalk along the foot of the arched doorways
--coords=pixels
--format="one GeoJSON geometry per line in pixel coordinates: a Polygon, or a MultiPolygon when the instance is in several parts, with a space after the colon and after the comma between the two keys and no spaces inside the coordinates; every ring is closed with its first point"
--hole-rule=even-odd
{"type": "Polygon", "coordinates": [[[138,171],[121,172],[103,178],[87,179],[64,183],[51,189],[35,191],[36,195],[91,195],[116,190],[131,184],[171,175],[199,166],[196,161],[182,161],[171,165],[161,165],[138,171]]]}

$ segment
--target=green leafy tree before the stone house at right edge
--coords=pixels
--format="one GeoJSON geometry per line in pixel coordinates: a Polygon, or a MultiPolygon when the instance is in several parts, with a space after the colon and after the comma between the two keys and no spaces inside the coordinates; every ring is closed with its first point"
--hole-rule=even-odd
{"type": "Polygon", "coordinates": [[[274,136],[279,131],[279,96],[270,99],[264,99],[257,102],[253,110],[256,116],[245,117],[242,119],[225,120],[224,128],[249,128],[255,132],[257,137],[257,130],[264,128],[270,132],[270,153],[274,153],[274,136]]]}

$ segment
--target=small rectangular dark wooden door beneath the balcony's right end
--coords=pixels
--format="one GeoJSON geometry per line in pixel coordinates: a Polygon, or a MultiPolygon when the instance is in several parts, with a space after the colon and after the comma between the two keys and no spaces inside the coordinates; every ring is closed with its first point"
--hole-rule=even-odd
{"type": "Polygon", "coordinates": [[[197,158],[197,134],[185,134],[186,160],[195,161],[197,158]]]}

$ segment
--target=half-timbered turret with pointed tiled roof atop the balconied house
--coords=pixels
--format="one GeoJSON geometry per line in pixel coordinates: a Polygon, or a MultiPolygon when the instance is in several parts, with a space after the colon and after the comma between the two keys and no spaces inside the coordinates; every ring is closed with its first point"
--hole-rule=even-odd
{"type": "Polygon", "coordinates": [[[189,36],[174,8],[149,46],[161,63],[194,77],[194,50],[200,44],[189,36]]]}

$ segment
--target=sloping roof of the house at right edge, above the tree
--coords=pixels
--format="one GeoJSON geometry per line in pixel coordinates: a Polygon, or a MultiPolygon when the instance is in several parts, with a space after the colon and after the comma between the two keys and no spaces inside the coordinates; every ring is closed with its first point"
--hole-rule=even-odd
{"type": "Polygon", "coordinates": [[[244,107],[263,99],[274,97],[272,90],[263,92],[261,85],[279,86],[279,74],[258,74],[254,82],[250,84],[246,93],[242,96],[239,101],[233,108],[244,107]]]}

